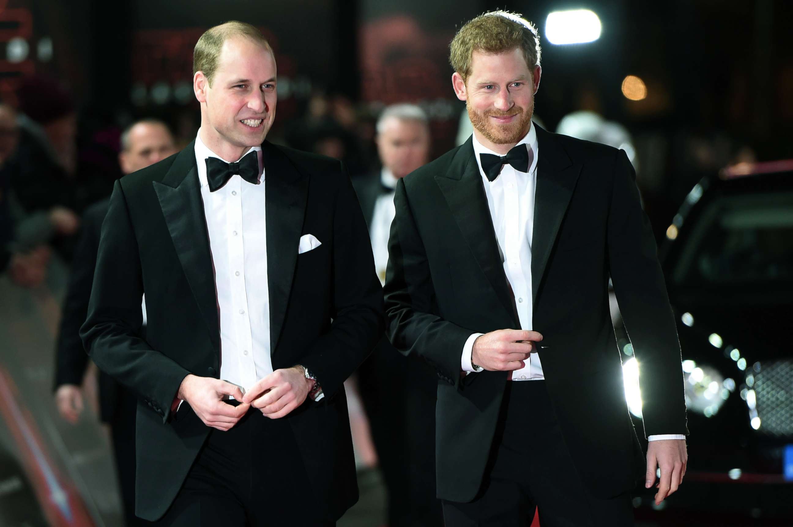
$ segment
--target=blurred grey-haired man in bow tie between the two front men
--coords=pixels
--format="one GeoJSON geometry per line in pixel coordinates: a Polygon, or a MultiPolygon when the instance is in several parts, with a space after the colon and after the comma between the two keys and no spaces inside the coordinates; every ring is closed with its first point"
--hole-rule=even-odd
{"type": "MultiPolygon", "coordinates": [[[[387,107],[377,120],[381,170],[355,181],[369,223],[377,276],[385,281],[397,181],[429,161],[427,114],[416,105],[387,107]]],[[[435,498],[435,372],[419,357],[405,357],[385,336],[358,369],[358,387],[369,417],[388,491],[389,527],[443,525],[435,498]]]]}

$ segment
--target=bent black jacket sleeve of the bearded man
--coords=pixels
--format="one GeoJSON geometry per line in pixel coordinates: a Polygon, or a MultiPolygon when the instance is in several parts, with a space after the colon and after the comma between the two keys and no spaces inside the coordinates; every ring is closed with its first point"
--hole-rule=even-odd
{"type": "Polygon", "coordinates": [[[473,334],[438,313],[427,252],[416,228],[404,181],[394,196],[397,216],[391,223],[385,277],[385,313],[391,343],[402,353],[416,353],[439,376],[459,388],[462,350],[473,334]]]}

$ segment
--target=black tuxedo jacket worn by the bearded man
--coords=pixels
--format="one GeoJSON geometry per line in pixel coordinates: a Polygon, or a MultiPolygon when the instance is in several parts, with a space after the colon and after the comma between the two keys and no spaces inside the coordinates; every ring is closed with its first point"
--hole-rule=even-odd
{"type": "MultiPolygon", "coordinates": [[[[609,276],[642,365],[648,435],[687,433],[672,310],[625,153],[539,127],[537,140],[531,277],[545,382],[584,483],[592,495],[619,495],[643,475],[644,460],[626,407],[609,276]]],[[[509,381],[506,372],[462,376],[462,348],[472,333],[520,327],[471,139],[401,180],[395,204],[389,335],[438,372],[438,496],[469,502],[509,381]]]]}

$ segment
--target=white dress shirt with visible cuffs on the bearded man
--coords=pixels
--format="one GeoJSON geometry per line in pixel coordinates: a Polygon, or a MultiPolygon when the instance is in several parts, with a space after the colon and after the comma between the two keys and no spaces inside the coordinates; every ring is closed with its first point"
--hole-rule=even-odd
{"type": "MultiPolygon", "coordinates": [[[[500,154],[486,148],[477,141],[476,134],[473,135],[473,154],[477,158],[479,174],[485,185],[485,196],[488,199],[490,216],[493,228],[496,231],[496,240],[498,241],[501,260],[504,265],[504,273],[507,275],[507,280],[512,289],[512,296],[520,321],[520,329],[531,330],[533,315],[531,240],[534,231],[534,191],[537,186],[537,160],[539,158],[537,132],[534,129],[534,124],[531,125],[529,132],[518,144],[525,144],[534,153],[531,158],[529,171],[520,172],[511,165],[505,164],[501,168],[499,177],[495,181],[489,181],[485,171],[482,170],[480,155],[483,153],[500,154]]],[[[481,368],[474,369],[471,364],[473,341],[479,336],[481,336],[481,333],[472,334],[465,342],[465,346],[463,346],[461,366],[464,372],[482,371],[481,368]]],[[[526,366],[524,368],[510,372],[511,380],[545,379],[538,353],[531,353],[525,362],[526,366]]],[[[685,436],[665,434],[649,436],[647,439],[648,441],[685,439],[685,436]]]]}

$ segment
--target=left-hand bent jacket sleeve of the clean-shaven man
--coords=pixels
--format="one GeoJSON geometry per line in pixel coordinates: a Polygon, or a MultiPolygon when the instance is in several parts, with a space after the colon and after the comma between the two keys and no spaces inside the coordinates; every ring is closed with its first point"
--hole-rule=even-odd
{"type": "Polygon", "coordinates": [[[124,189],[116,181],[102,223],[88,318],[80,337],[99,369],[135,392],[167,422],[174,396],[190,372],[140,337],[143,294],[137,240],[124,189]]]}

